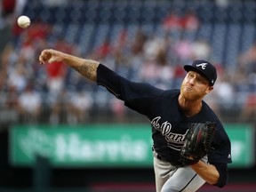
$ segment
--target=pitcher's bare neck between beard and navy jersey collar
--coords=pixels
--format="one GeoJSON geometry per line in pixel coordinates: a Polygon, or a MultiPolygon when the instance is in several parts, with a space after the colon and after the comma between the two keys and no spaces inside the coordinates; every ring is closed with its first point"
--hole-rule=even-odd
{"type": "Polygon", "coordinates": [[[202,108],[202,100],[187,100],[179,96],[179,107],[185,116],[195,116],[202,108]]]}

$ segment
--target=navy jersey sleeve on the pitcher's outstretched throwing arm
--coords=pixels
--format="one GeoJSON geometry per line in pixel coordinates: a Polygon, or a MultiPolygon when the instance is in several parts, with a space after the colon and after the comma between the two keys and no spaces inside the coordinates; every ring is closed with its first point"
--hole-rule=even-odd
{"type": "Polygon", "coordinates": [[[97,69],[97,84],[104,86],[124,105],[140,114],[148,116],[150,103],[161,90],[150,84],[134,83],[123,76],[119,76],[111,69],[100,64],[97,69]]]}

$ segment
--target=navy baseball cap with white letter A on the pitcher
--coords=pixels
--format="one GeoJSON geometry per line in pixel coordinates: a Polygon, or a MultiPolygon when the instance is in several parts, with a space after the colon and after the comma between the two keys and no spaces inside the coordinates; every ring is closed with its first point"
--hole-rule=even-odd
{"type": "Polygon", "coordinates": [[[194,60],[192,65],[185,65],[184,69],[188,72],[190,70],[203,74],[211,85],[213,85],[217,79],[216,68],[206,60],[194,60]]]}

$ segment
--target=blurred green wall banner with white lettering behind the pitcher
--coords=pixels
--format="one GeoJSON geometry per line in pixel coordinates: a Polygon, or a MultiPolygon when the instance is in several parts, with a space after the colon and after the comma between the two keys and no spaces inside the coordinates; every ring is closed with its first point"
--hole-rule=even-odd
{"type": "MultiPolygon", "coordinates": [[[[254,164],[254,129],[250,124],[225,124],[232,143],[233,164],[254,164]]],[[[58,167],[150,167],[148,124],[15,125],[10,129],[11,164],[32,166],[36,156],[58,167]]]]}

